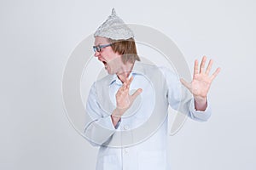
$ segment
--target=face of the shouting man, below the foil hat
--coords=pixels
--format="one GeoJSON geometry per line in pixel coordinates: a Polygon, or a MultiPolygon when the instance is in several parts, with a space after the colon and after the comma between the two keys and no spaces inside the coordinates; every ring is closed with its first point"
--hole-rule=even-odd
{"type": "MultiPolygon", "coordinates": [[[[97,45],[107,45],[109,44],[108,38],[105,37],[96,37],[95,46],[97,45]]],[[[119,54],[114,53],[113,49],[108,46],[101,48],[100,52],[95,52],[94,54],[104,65],[105,69],[108,71],[108,74],[116,74],[119,71],[119,65],[121,64],[121,57],[119,54]]]]}

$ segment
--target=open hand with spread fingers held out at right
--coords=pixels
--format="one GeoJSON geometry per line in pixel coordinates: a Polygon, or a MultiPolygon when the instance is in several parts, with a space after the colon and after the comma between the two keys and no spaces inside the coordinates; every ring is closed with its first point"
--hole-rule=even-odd
{"type": "Polygon", "coordinates": [[[210,59],[209,64],[207,65],[207,69],[205,70],[205,65],[207,62],[207,57],[204,56],[201,59],[200,70],[198,66],[198,60],[195,59],[194,65],[194,74],[192,82],[186,82],[185,80],[181,79],[180,81],[183,85],[189,89],[189,91],[194,95],[195,102],[197,103],[206,103],[207,102],[207,94],[211,87],[212,81],[215,77],[217,77],[220,68],[213,72],[212,76],[209,75],[212,69],[212,59],[210,59]]]}

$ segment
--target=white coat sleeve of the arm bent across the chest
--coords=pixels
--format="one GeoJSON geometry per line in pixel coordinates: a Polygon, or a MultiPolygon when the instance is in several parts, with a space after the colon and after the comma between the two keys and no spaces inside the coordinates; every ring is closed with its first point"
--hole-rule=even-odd
{"type": "Polygon", "coordinates": [[[95,83],[90,88],[90,93],[86,103],[86,123],[84,127],[84,137],[90,144],[99,146],[108,144],[113,133],[119,127],[113,127],[109,113],[102,110],[96,99],[95,83]]]}

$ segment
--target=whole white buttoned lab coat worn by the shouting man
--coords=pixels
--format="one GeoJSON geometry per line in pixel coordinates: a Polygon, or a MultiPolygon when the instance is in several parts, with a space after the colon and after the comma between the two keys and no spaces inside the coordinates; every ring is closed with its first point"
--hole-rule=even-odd
{"type": "Polygon", "coordinates": [[[84,134],[91,144],[100,146],[96,170],[169,170],[168,105],[197,121],[207,121],[209,106],[206,111],[195,111],[189,91],[166,68],[136,62],[131,76],[131,91],[143,88],[143,93],[116,127],[110,115],[122,82],[116,75],[108,75],[90,89],[86,111],[91,119],[84,134]]]}

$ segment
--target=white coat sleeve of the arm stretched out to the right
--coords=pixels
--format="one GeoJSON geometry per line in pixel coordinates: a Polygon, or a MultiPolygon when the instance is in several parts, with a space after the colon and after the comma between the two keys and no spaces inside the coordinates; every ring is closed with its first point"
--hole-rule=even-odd
{"type": "Polygon", "coordinates": [[[193,95],[182,85],[177,74],[165,67],[160,67],[160,71],[166,77],[167,99],[172,109],[188,115],[195,121],[206,122],[212,114],[209,100],[207,99],[206,111],[196,111],[193,95]]]}

